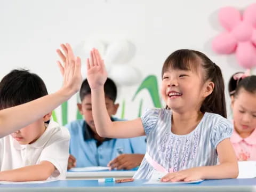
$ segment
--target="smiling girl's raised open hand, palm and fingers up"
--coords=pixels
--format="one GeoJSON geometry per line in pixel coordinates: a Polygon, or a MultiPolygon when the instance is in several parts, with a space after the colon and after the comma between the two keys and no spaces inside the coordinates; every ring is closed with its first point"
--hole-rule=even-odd
{"type": "Polygon", "coordinates": [[[107,76],[104,61],[101,59],[99,51],[93,49],[90,53],[90,59],[87,59],[87,80],[91,89],[103,87],[107,76]]]}

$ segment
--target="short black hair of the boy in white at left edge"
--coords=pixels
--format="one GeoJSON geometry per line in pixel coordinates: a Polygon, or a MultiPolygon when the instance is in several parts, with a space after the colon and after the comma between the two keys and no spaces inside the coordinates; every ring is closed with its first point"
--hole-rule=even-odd
{"type": "Polygon", "coordinates": [[[38,75],[25,69],[12,70],[0,82],[0,110],[21,105],[47,94],[46,86],[38,75]]]}

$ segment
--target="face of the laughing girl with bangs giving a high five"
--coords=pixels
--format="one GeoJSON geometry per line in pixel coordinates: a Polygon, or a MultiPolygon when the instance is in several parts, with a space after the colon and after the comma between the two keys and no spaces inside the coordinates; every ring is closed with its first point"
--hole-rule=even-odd
{"type": "MultiPolygon", "coordinates": [[[[201,71],[200,71],[201,70],[201,71]]],[[[169,69],[163,74],[161,94],[166,105],[174,111],[199,110],[205,95],[202,74],[198,71],[169,69]]]]}

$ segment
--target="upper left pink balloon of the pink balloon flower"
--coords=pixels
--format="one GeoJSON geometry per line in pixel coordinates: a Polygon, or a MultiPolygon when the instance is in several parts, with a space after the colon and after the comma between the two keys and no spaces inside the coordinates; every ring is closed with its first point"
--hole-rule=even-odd
{"type": "Polygon", "coordinates": [[[219,12],[221,25],[231,31],[239,22],[242,21],[240,12],[234,7],[223,7],[219,12]]]}

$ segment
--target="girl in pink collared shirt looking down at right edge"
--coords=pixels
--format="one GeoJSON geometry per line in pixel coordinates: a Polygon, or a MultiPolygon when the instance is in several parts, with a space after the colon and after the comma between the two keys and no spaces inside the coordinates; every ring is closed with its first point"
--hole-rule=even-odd
{"type": "Polygon", "coordinates": [[[237,73],[229,81],[234,132],[231,143],[238,161],[256,161],[256,76],[237,73]]]}

